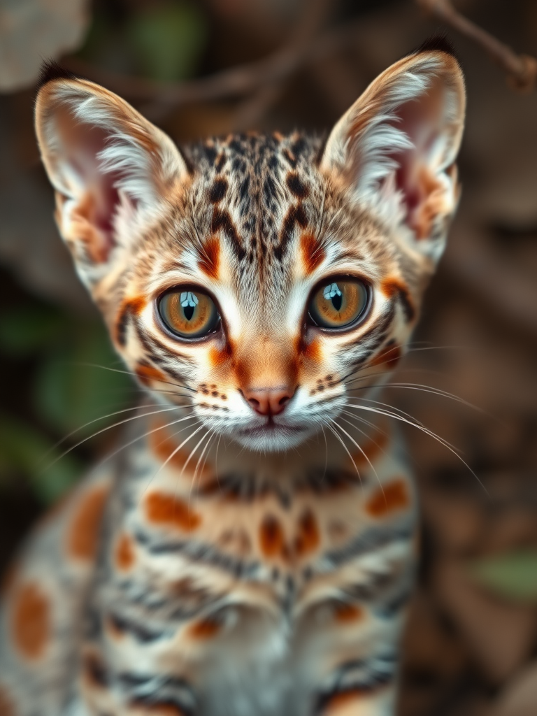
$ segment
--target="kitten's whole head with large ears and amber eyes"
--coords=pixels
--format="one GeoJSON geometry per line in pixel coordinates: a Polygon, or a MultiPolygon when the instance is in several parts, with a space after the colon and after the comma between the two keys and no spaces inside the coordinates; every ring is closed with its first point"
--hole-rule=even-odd
{"type": "Polygon", "coordinates": [[[404,352],[458,200],[464,112],[437,43],[379,75],[326,142],[181,152],[54,67],[36,122],[59,231],[127,367],[216,432],[285,450],[404,352]]]}

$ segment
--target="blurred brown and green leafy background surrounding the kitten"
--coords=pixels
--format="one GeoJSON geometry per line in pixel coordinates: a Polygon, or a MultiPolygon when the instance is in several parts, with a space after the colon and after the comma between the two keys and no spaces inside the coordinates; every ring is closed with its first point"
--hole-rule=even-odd
{"type": "MultiPolygon", "coordinates": [[[[454,5],[513,52],[537,54],[535,0],[454,5]]],[[[119,93],[180,143],[249,128],[323,132],[376,74],[440,30],[468,82],[463,196],[397,375],[414,385],[388,388],[386,400],[455,445],[469,468],[406,431],[422,563],[400,714],[537,714],[537,91],[458,32],[446,7],[0,0],[0,570],[120,427],[102,430],[110,417],[69,433],[138,400],[130,379],[107,369],[121,366],[52,219],[32,127],[42,58],[119,93]]]]}

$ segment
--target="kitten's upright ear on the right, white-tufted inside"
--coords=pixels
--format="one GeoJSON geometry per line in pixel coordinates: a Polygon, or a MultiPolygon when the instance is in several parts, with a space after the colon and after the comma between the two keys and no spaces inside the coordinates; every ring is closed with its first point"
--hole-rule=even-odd
{"type": "Polygon", "coordinates": [[[321,169],[437,259],[458,201],[464,116],[460,65],[448,42],[434,38],[367,87],[329,135],[321,169]]]}

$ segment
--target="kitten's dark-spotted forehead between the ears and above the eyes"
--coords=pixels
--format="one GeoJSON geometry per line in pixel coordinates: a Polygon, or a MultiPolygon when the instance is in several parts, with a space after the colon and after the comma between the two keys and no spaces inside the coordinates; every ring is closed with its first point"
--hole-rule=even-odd
{"type": "Polygon", "coordinates": [[[319,171],[321,149],[319,137],[294,132],[233,135],[186,150],[197,237],[204,248],[226,245],[237,286],[256,287],[257,299],[285,296],[297,265],[314,271],[326,258],[327,228],[344,216],[319,171]]]}

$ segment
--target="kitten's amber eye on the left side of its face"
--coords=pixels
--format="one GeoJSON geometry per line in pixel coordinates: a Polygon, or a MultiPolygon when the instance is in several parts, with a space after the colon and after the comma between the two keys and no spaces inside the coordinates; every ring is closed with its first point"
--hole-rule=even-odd
{"type": "Polygon", "coordinates": [[[220,316],[211,296],[194,287],[180,286],[158,301],[165,326],[181,338],[203,338],[218,328],[220,316]]]}

